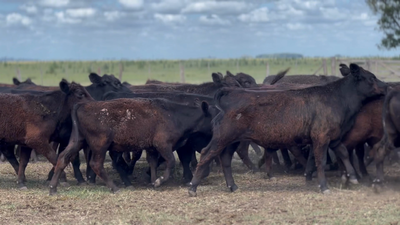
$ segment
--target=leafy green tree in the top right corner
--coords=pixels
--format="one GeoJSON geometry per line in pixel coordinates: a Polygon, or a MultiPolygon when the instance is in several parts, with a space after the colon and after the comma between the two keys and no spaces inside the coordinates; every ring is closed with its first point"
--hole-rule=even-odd
{"type": "Polygon", "coordinates": [[[394,49],[400,45],[400,0],[366,0],[375,15],[379,15],[379,30],[385,37],[380,48],[394,49]]]}

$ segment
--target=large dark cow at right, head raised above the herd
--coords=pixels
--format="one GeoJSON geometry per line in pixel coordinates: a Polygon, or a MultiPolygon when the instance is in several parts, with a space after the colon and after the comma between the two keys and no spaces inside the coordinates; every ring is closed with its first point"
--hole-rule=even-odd
{"type": "MultiPolygon", "coordinates": [[[[202,150],[189,194],[197,186],[210,160],[237,141],[251,140],[264,148],[284,148],[312,144],[323,193],[329,193],[324,166],[328,146],[345,163],[350,180],[357,180],[341,137],[352,126],[362,102],[385,92],[386,84],[356,64],[351,75],[302,90],[282,92],[246,91],[224,88],[216,94],[221,112],[214,119],[213,138],[202,150]]],[[[231,156],[222,158],[227,186],[237,189],[231,174],[231,156]]]]}

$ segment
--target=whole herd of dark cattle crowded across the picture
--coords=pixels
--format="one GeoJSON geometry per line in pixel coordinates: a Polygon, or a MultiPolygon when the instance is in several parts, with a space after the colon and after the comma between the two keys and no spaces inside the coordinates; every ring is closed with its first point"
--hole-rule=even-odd
{"type": "Polygon", "coordinates": [[[32,150],[45,156],[54,166],[48,175],[50,194],[66,182],[64,169],[70,162],[78,183],[86,182],[77,157],[81,149],[87,181],[94,183],[97,175],[112,192],[118,187],[104,170],[107,151],[129,186],[128,176],[145,150],[151,183],[158,187],[171,176],[176,150],[189,195],[196,196],[213,160],[235,191],[232,156],[237,152],[256,170],[248,155],[250,145],[265,149],[259,165],[265,163],[269,177],[277,150],[285,164],[291,164],[289,150],[305,169],[306,180],[317,171],[322,193],[329,193],[325,165],[330,148],[343,182],[357,184],[360,177],[369,177],[366,163],[374,161],[373,184],[380,186],[384,158],[400,146],[400,83],[382,82],[357,64],[341,64],[342,78],[285,76],[287,71],[266,77],[263,84],[229,71],[225,76],[213,73],[213,82],[199,85],[155,80],[130,85],[95,73],[89,75],[92,84],[87,87],[64,79],[59,87],[47,87],[14,78],[14,85],[0,85],[1,153],[17,173],[19,188],[26,188],[25,168],[32,150]],[[361,176],[354,169],[353,151],[361,176]],[[201,153],[199,162],[196,152],[201,153]],[[162,162],[166,169],[157,177],[162,162]]]}

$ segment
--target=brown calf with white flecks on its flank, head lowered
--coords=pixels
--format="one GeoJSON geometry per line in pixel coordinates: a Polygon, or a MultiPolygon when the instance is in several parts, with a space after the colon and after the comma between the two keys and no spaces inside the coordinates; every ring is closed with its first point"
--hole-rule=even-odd
{"type": "MultiPolygon", "coordinates": [[[[103,168],[107,150],[157,151],[165,159],[167,169],[164,176],[152,182],[155,187],[161,185],[169,179],[175,164],[172,150],[184,144],[194,132],[210,132],[212,115],[209,109],[206,102],[202,102],[200,108],[163,99],[115,99],[76,105],[72,112],[71,139],[58,158],[50,183],[50,194],[57,192],[60,173],[82,145],[90,147],[90,166],[113,192],[118,188],[108,179],[103,168]]],[[[212,108],[212,111],[215,109],[212,108]]],[[[155,172],[154,162],[157,161],[151,163],[152,173],[155,172]]]]}

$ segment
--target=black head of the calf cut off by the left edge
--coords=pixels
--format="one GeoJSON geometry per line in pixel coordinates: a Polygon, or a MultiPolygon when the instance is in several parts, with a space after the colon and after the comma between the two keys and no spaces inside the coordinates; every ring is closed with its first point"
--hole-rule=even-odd
{"type": "Polygon", "coordinates": [[[68,83],[68,81],[62,79],[60,82],[60,89],[64,94],[66,94],[67,105],[64,107],[67,107],[70,110],[76,103],[93,101],[92,96],[90,96],[86,89],[75,82],[68,83]]]}

